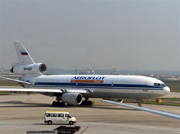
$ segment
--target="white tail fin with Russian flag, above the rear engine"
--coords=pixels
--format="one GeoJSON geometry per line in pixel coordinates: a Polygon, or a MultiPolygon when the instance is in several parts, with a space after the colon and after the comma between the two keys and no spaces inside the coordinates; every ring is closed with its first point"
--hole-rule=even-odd
{"type": "Polygon", "coordinates": [[[14,42],[14,46],[16,48],[17,56],[19,59],[18,64],[20,65],[35,64],[31,55],[28,53],[28,51],[25,49],[25,47],[23,46],[21,42],[19,41],[14,42]]]}

